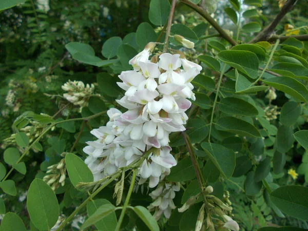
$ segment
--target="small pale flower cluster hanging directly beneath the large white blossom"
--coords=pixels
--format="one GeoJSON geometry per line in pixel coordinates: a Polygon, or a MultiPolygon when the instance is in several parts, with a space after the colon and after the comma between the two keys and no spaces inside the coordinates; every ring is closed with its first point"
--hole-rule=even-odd
{"type": "Polygon", "coordinates": [[[171,215],[172,209],[175,209],[175,203],[173,199],[176,196],[176,191],[180,191],[180,183],[171,184],[165,183],[158,186],[155,190],[151,191],[149,196],[154,200],[147,208],[155,210],[153,217],[159,220],[161,215],[164,214],[166,218],[171,215]]]}

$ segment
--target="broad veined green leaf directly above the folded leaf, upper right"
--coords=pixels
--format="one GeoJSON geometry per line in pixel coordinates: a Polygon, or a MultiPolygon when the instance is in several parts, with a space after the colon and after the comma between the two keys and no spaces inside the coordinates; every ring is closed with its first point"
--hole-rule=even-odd
{"type": "Polygon", "coordinates": [[[218,59],[238,69],[252,79],[258,78],[259,59],[250,51],[224,50],[218,53],[218,59]]]}

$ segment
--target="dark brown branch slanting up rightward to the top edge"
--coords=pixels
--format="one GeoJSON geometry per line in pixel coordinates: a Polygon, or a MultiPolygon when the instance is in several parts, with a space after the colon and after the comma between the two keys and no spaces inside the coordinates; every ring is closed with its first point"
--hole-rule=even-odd
{"type": "Polygon", "coordinates": [[[282,18],[286,15],[287,12],[292,10],[297,0],[287,0],[283,5],[280,12],[275,17],[274,21],[265,27],[253,40],[249,43],[257,43],[260,41],[267,41],[269,37],[274,33],[275,28],[278,26],[282,18]]]}

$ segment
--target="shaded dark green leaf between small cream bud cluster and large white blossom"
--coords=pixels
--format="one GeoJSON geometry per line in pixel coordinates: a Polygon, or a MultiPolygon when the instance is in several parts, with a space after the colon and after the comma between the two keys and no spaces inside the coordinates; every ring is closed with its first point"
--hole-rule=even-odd
{"type": "MultiPolygon", "coordinates": [[[[121,93],[117,85],[117,79],[106,72],[98,73],[97,82],[101,88],[101,92],[110,97],[118,97],[121,93]]],[[[93,108],[92,108],[93,110],[93,108]]]]}

